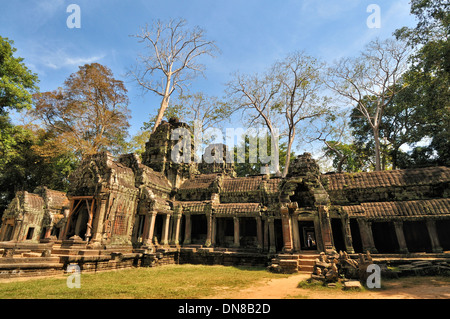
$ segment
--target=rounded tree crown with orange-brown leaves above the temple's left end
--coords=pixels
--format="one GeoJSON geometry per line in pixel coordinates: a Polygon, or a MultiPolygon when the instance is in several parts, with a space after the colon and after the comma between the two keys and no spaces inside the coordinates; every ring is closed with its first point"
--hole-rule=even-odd
{"type": "Polygon", "coordinates": [[[85,64],[62,89],[33,97],[32,114],[54,133],[59,148],[82,158],[101,151],[120,154],[127,147],[127,89],[109,68],[85,64]]]}

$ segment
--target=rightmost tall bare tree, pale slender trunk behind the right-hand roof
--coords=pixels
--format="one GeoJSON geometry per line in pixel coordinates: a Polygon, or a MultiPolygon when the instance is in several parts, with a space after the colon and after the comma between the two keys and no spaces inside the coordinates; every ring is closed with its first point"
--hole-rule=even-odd
{"type": "Polygon", "coordinates": [[[380,126],[385,108],[402,89],[396,85],[406,71],[407,46],[392,39],[371,41],[355,58],[329,68],[327,85],[353,105],[373,130],[375,169],[381,170],[380,126]]]}

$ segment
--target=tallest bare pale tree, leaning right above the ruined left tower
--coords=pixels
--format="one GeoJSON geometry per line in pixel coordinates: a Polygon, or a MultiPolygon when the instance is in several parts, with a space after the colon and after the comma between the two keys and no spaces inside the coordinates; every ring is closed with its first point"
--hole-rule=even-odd
{"type": "Polygon", "coordinates": [[[146,25],[135,35],[144,43],[147,53],[139,56],[139,63],[129,71],[137,83],[161,99],[153,131],[161,123],[169,105],[170,96],[183,90],[196,76],[203,74],[205,66],[199,63],[201,56],[214,56],[218,51],[213,41],[205,38],[199,27],[188,28],[184,19],[164,23],[156,21],[146,25]]]}

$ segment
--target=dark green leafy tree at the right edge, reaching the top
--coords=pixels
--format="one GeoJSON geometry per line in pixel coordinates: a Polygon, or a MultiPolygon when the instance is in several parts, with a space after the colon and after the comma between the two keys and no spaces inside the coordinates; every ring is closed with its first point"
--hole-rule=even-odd
{"type": "Polygon", "coordinates": [[[415,28],[395,35],[416,48],[404,79],[409,89],[403,97],[414,107],[416,142],[430,139],[402,154],[401,167],[450,165],[450,11],[446,0],[412,0],[415,28]]]}

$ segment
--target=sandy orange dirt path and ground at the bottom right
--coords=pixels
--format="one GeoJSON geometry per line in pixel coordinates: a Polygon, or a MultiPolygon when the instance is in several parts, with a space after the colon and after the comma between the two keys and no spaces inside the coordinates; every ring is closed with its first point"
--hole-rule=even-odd
{"type": "Polygon", "coordinates": [[[343,291],[338,288],[297,288],[309,274],[271,279],[239,292],[218,292],[217,299],[450,299],[448,277],[405,277],[382,281],[380,289],[343,291]]]}

